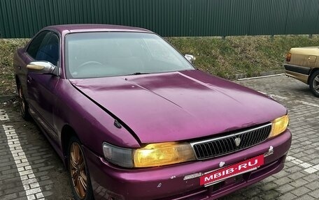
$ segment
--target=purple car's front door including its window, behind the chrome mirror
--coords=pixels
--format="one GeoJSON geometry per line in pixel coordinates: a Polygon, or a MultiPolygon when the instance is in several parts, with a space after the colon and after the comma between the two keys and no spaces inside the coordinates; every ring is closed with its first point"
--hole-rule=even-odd
{"type": "MultiPolygon", "coordinates": [[[[30,43],[29,49],[34,48],[30,43]]],[[[38,44],[37,44],[38,45],[38,44]]],[[[31,61],[48,61],[59,67],[59,36],[48,31],[43,37],[41,45],[35,48],[33,54],[29,54],[31,61]]],[[[57,139],[53,125],[53,107],[55,103],[55,88],[59,77],[50,74],[27,73],[27,93],[30,113],[36,118],[52,139],[57,139]]]]}

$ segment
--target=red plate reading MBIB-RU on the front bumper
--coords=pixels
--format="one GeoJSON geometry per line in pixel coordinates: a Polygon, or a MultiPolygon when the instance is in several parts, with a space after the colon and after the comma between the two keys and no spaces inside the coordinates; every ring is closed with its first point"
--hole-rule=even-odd
{"type": "Polygon", "coordinates": [[[209,172],[208,174],[201,176],[200,184],[209,186],[226,178],[253,171],[257,169],[257,167],[262,166],[262,164],[264,164],[264,155],[258,155],[243,162],[209,172]]]}

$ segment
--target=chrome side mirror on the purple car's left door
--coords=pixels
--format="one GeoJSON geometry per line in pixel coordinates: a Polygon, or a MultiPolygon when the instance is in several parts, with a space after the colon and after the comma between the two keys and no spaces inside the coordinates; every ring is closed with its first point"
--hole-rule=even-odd
{"type": "Polygon", "coordinates": [[[53,65],[52,63],[48,61],[31,62],[29,63],[29,65],[27,65],[27,69],[30,72],[34,72],[37,74],[50,74],[50,75],[59,76],[59,71],[57,66],[53,65]]]}

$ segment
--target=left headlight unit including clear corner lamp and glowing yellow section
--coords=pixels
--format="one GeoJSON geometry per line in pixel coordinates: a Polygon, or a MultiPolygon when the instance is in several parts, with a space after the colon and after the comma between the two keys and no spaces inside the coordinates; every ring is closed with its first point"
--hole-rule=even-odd
{"type": "Polygon", "coordinates": [[[178,142],[148,144],[134,150],[104,143],[103,152],[109,162],[129,168],[157,167],[195,160],[190,144],[178,142]]]}

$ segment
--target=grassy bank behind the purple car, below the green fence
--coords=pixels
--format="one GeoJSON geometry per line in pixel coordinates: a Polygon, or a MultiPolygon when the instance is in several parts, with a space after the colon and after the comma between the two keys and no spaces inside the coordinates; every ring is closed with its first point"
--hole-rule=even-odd
{"type": "MultiPolygon", "coordinates": [[[[285,54],[291,47],[319,46],[319,36],[232,36],[166,38],[183,54],[196,56],[195,66],[227,79],[244,73],[283,70],[285,54]]],[[[0,39],[0,95],[15,93],[13,54],[28,39],[0,39]]]]}

